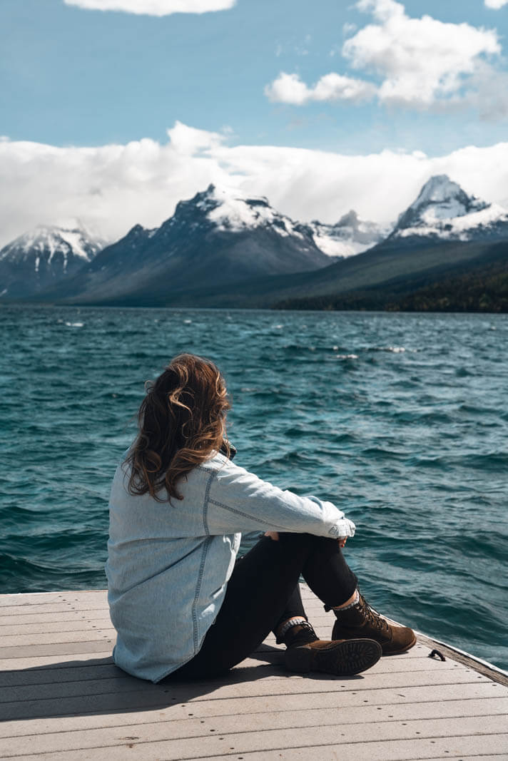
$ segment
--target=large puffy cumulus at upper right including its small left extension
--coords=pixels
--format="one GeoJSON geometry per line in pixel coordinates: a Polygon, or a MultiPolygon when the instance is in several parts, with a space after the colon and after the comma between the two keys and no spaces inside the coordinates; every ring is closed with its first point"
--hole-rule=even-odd
{"type": "MultiPolygon", "coordinates": [[[[445,23],[427,14],[410,18],[395,0],[359,0],[356,7],[371,13],[375,23],[345,40],[342,55],[353,69],[374,79],[333,73],[308,88],[297,75],[283,74],[265,88],[271,100],[303,105],[310,100],[358,101],[376,94],[380,103],[443,110],[477,104],[482,100],[480,81],[498,75],[491,65],[501,53],[495,30],[445,23]]],[[[505,113],[508,103],[506,97],[502,100],[505,113]]]]}

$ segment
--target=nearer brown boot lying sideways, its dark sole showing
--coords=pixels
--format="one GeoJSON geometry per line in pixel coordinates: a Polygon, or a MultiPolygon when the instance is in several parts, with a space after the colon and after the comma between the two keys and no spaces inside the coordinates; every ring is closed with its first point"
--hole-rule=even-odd
{"type": "Polygon", "coordinates": [[[347,639],[331,642],[327,648],[319,650],[308,645],[288,648],[284,662],[289,671],[322,671],[336,677],[349,677],[370,668],[381,656],[381,645],[374,639],[347,639]]]}

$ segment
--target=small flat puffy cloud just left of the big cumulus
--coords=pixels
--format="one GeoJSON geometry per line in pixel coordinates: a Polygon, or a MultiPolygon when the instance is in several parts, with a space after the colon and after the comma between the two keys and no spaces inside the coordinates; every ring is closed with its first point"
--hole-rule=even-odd
{"type": "Polygon", "coordinates": [[[278,78],[267,84],[264,92],[274,103],[302,106],[310,100],[368,100],[375,94],[375,87],[361,79],[343,77],[332,72],[308,88],[297,74],[281,72],[278,78]]]}

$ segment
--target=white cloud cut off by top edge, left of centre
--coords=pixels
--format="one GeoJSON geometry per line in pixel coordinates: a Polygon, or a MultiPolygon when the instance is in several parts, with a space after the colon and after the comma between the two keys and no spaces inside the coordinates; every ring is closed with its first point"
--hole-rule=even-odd
{"type": "Polygon", "coordinates": [[[87,11],[125,11],[149,16],[169,16],[172,13],[206,13],[226,11],[236,0],[64,0],[65,5],[77,5],[87,11]]]}

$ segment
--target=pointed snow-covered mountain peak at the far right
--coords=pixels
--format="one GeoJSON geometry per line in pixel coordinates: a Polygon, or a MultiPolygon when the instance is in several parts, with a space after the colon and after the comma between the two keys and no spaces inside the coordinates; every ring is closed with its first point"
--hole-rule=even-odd
{"type": "Polygon", "coordinates": [[[468,196],[446,174],[430,177],[417,199],[398,218],[388,240],[411,244],[425,240],[503,240],[508,211],[496,203],[468,196]]]}

